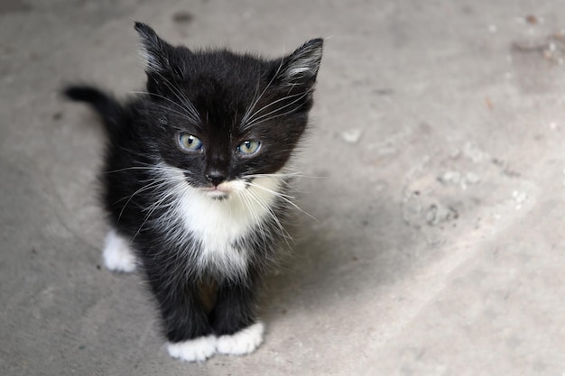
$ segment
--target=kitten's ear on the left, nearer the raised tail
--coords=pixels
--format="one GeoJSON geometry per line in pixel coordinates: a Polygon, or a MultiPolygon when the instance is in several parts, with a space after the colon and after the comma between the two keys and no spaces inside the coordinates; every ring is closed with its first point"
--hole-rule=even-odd
{"type": "Polygon", "coordinates": [[[173,47],[159,38],[157,33],[145,23],[135,23],[135,31],[141,37],[141,54],[146,62],[147,74],[169,70],[169,54],[173,47]]]}

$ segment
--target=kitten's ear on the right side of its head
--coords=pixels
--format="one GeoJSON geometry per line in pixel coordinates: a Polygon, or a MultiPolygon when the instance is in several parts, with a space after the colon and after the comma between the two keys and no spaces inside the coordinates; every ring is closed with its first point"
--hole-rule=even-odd
{"type": "Polygon", "coordinates": [[[324,40],[312,39],[282,59],[278,78],[287,84],[313,84],[320,69],[324,40]]]}

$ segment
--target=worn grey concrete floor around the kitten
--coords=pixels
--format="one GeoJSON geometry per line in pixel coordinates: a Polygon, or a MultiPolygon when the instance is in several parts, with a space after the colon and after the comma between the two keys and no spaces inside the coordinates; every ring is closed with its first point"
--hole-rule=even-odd
{"type": "Polygon", "coordinates": [[[565,373],[565,6],[0,2],[0,374],[565,373]],[[142,87],[134,20],[276,56],[327,37],[295,254],[264,345],[172,360],[137,275],[100,267],[103,136],[76,80],[142,87]]]}

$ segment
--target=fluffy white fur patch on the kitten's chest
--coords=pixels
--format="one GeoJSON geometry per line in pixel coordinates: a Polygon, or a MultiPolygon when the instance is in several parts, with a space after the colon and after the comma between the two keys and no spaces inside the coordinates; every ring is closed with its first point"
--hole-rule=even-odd
{"type": "Polygon", "coordinates": [[[262,231],[265,216],[273,216],[273,201],[281,180],[263,177],[227,183],[230,190],[224,199],[215,199],[208,192],[191,188],[182,182],[175,214],[184,230],[199,242],[198,268],[211,269],[226,277],[245,275],[249,250],[238,240],[262,231]],[[238,246],[236,246],[238,244],[238,246]]]}

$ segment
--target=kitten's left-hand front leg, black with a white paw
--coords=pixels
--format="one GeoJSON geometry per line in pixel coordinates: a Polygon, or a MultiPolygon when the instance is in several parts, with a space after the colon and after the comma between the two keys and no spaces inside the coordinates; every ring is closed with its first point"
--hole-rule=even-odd
{"type": "Polygon", "coordinates": [[[173,358],[201,362],[216,353],[216,336],[199,299],[198,285],[178,275],[178,265],[152,260],[144,271],[159,303],[167,350],[173,358]]]}

